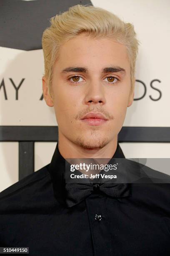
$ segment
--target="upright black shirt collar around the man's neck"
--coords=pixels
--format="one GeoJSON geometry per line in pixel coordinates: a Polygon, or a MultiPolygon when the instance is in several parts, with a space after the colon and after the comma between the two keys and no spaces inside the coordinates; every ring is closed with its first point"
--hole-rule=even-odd
{"type": "MultiPolygon", "coordinates": [[[[117,143],[117,148],[112,158],[125,158],[119,143],[117,143]]],[[[52,180],[54,196],[62,204],[65,202],[65,161],[64,157],[60,154],[57,143],[48,171],[52,180]]]]}

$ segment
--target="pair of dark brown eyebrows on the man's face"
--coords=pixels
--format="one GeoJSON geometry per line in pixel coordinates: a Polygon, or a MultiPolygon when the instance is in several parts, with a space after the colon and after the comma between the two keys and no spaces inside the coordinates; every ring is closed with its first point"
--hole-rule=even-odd
{"type": "MultiPolygon", "coordinates": [[[[63,69],[61,73],[68,73],[68,72],[88,73],[88,70],[85,67],[67,67],[63,69]]],[[[126,73],[125,69],[119,66],[105,67],[104,69],[102,69],[102,73],[116,73],[116,72],[126,73]]]]}

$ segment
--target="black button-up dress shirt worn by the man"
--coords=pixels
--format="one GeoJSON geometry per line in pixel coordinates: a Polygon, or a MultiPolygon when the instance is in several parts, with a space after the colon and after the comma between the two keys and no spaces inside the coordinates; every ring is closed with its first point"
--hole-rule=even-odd
{"type": "MultiPolygon", "coordinates": [[[[125,158],[119,144],[112,158],[125,158]]],[[[94,189],[68,206],[64,169],[57,144],[50,164],[0,193],[1,247],[29,247],[30,256],[170,255],[170,183],[116,184],[115,197],[94,189]]]]}

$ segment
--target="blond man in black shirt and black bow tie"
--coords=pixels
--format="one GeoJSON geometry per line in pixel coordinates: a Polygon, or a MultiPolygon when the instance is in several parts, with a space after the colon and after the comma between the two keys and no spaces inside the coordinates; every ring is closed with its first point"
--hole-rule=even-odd
{"type": "Polygon", "coordinates": [[[42,46],[59,141],[50,164],[0,193],[0,246],[40,256],[170,255],[169,183],[148,182],[128,160],[120,170],[139,183],[65,178],[65,159],[125,159],[117,135],[134,96],[133,26],[76,5],[51,19],[42,46]]]}

